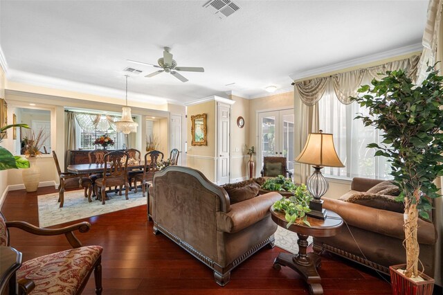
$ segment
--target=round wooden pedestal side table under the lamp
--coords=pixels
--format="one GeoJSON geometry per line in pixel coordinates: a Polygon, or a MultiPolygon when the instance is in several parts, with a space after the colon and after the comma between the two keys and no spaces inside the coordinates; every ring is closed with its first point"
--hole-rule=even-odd
{"type": "Polygon", "coordinates": [[[341,231],[343,219],[334,211],[327,210],[327,217],[325,220],[320,220],[314,217],[307,217],[307,221],[311,226],[306,224],[291,224],[287,228],[288,222],[284,219],[284,213],[274,211],[271,207],[272,220],[282,226],[284,229],[293,231],[298,235],[298,254],[280,253],[274,260],[273,267],[280,270],[282,266],[291,267],[297,271],[309,285],[310,294],[323,294],[323,287],[321,286],[321,278],[318,275],[317,269],[321,267],[320,256],[317,253],[306,253],[309,245],[307,238],[309,235],[313,237],[332,237],[341,231]]]}

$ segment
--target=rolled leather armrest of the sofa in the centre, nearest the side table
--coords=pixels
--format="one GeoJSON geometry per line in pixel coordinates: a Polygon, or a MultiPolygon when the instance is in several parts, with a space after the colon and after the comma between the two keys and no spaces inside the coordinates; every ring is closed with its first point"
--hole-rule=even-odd
{"type": "Polygon", "coordinates": [[[217,212],[217,230],[237,233],[246,229],[268,216],[269,208],[281,198],[279,193],[271,192],[230,205],[228,213],[217,212]]]}

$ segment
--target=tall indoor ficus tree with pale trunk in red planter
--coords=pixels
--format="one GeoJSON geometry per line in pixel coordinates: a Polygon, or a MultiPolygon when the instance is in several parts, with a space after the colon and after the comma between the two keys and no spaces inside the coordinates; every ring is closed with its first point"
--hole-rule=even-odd
{"type": "MultiPolygon", "coordinates": [[[[371,143],[368,147],[377,149],[376,156],[388,157],[392,166],[390,175],[394,177],[404,202],[404,233],[406,267],[404,278],[416,280],[421,275],[419,264],[419,244],[417,222],[419,215],[429,219],[430,200],[440,197],[433,181],[443,175],[443,77],[437,75],[435,67],[428,68],[428,76],[422,84],[415,85],[406,72],[387,71],[381,80],[359,89],[358,97],[352,98],[362,107],[369,109],[369,116],[357,116],[368,126],[382,132],[383,145],[371,143]]],[[[398,281],[398,266],[390,267],[394,294],[406,294],[401,289],[413,280],[395,285],[398,281]]],[[[426,276],[422,276],[425,277],[426,276]]],[[[431,293],[433,280],[431,283],[431,293]]],[[[426,289],[424,283],[417,283],[416,290],[426,289]]],[[[412,287],[410,288],[413,289],[412,287]]],[[[429,287],[428,287],[429,289],[429,287]]],[[[424,294],[424,293],[422,293],[424,294]]]]}

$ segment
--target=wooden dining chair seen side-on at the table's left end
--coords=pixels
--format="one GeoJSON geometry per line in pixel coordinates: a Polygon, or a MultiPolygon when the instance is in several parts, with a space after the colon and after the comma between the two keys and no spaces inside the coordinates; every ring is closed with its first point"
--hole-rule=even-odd
{"type": "Polygon", "coordinates": [[[55,162],[55,168],[57,168],[58,177],[60,179],[60,184],[58,186],[58,202],[60,202],[60,208],[64,204],[64,190],[69,188],[84,188],[84,197],[91,201],[92,193],[92,181],[87,175],[76,175],[71,172],[62,172],[60,169],[60,164],[58,163],[57,154],[53,151],[53,157],[55,162]]]}

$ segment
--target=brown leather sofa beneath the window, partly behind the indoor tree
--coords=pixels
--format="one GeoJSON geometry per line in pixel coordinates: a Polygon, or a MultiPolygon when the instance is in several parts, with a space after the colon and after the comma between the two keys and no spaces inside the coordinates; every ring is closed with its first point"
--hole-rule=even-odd
{"type": "MultiPolygon", "coordinates": [[[[323,207],[338,213],[347,226],[344,225],[341,233],[334,237],[314,238],[316,251],[323,248],[385,274],[389,274],[390,265],[406,263],[406,252],[402,244],[403,213],[343,201],[355,193],[366,192],[380,182],[381,180],[354,178],[350,192],[340,199],[323,198],[325,201],[323,207]]],[[[437,271],[440,269],[437,264],[441,262],[435,258],[440,257],[437,253],[442,247],[437,245],[435,212],[431,215],[432,222],[419,220],[419,258],[428,276],[440,278],[437,276],[437,271]]],[[[436,280],[435,283],[442,285],[441,280],[436,280]]]]}

